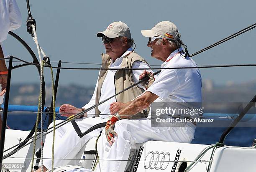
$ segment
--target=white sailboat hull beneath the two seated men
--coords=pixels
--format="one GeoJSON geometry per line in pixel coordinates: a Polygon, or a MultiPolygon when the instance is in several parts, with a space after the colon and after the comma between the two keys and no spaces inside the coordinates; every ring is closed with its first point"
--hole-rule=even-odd
{"type": "MultiPolygon", "coordinates": [[[[28,131],[6,130],[5,149],[23,141],[28,131]],[[20,140],[21,139],[21,140],[20,140]]],[[[95,151],[96,137],[92,138],[81,149],[81,152],[95,151]]],[[[100,142],[98,142],[100,144],[100,142]]],[[[36,150],[40,149],[40,141],[36,143],[36,150]]],[[[184,172],[184,169],[191,164],[203,149],[209,147],[204,144],[186,144],[175,142],[148,141],[143,144],[136,144],[131,149],[128,172],[184,172]]],[[[11,151],[11,150],[10,150],[11,151]]],[[[10,152],[8,151],[8,152],[10,152]]],[[[7,154],[8,152],[4,152],[7,154]]],[[[189,170],[189,172],[207,172],[212,148],[209,149],[189,170]]],[[[30,172],[31,157],[33,154],[33,143],[20,149],[18,152],[3,160],[3,164],[24,164],[26,168],[8,168],[10,172],[30,172]]],[[[256,149],[254,147],[231,147],[224,146],[215,150],[209,172],[255,172],[256,171],[256,149]]],[[[36,158],[36,157],[35,157],[36,158]]],[[[78,165],[92,169],[96,161],[95,154],[83,154],[78,165]]],[[[34,164],[36,159],[34,160],[34,164]]],[[[40,165],[40,164],[39,164],[40,165]]],[[[77,165],[77,164],[74,164],[77,165]]],[[[63,169],[63,167],[62,167],[63,169]]]]}

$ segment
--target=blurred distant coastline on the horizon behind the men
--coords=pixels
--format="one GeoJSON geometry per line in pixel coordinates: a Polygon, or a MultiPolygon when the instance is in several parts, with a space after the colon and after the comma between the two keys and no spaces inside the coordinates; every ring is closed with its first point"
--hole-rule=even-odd
{"type": "MultiPolygon", "coordinates": [[[[72,104],[81,107],[90,101],[94,86],[81,86],[76,84],[59,84],[56,106],[72,104]]],[[[38,104],[38,83],[13,83],[10,91],[10,104],[33,105],[38,104]]],[[[227,81],[225,85],[215,85],[211,80],[203,80],[203,102],[248,102],[256,94],[256,81],[233,83],[227,81]]],[[[46,106],[51,104],[51,85],[46,85],[46,106]]]]}

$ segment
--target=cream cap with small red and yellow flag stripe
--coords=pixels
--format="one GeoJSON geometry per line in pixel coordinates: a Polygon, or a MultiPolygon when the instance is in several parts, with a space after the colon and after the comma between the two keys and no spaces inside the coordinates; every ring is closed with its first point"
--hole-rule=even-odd
{"type": "Polygon", "coordinates": [[[169,40],[178,40],[180,34],[176,25],[169,21],[157,23],[151,30],[141,30],[145,37],[161,36],[169,40]]]}

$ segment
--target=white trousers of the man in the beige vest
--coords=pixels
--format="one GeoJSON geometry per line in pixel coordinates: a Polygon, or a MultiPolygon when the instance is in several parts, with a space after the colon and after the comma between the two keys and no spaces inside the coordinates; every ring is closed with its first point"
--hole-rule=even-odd
{"type": "MultiPolygon", "coordinates": [[[[58,124],[61,121],[62,120],[56,120],[55,124],[58,124]]],[[[107,121],[107,119],[103,119],[101,117],[76,119],[77,125],[79,126],[82,133],[96,124],[107,121]]],[[[53,126],[53,123],[49,125],[49,127],[51,126],[53,126]]],[[[69,164],[72,159],[76,157],[77,153],[84,146],[84,144],[88,142],[92,137],[100,135],[101,130],[102,128],[96,129],[93,132],[90,132],[89,134],[86,134],[84,137],[80,138],[75,132],[71,122],[68,122],[67,124],[56,129],[54,139],[54,168],[69,164]]],[[[43,164],[47,169],[51,169],[52,141],[53,132],[46,135],[44,142],[43,164]]],[[[77,157],[81,158],[82,154],[80,157],[77,157]]],[[[76,164],[78,164],[78,162],[79,160],[77,160],[76,164]]]]}

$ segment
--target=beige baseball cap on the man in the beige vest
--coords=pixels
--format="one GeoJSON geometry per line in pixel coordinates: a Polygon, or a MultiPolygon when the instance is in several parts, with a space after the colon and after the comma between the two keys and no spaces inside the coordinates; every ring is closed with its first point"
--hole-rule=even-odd
{"type": "Polygon", "coordinates": [[[106,28],[103,32],[98,32],[97,37],[106,36],[108,38],[117,38],[118,36],[123,36],[128,39],[131,39],[131,32],[128,27],[123,22],[113,22],[106,28]]]}

